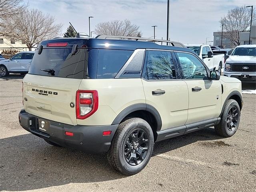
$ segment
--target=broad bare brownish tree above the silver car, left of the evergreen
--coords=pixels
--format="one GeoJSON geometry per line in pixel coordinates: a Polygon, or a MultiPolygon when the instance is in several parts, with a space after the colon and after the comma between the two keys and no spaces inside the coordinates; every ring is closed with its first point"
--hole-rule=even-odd
{"type": "Polygon", "coordinates": [[[60,35],[62,29],[62,24],[55,24],[53,16],[37,9],[14,15],[5,22],[5,36],[26,43],[29,50],[42,40],[60,35]]]}

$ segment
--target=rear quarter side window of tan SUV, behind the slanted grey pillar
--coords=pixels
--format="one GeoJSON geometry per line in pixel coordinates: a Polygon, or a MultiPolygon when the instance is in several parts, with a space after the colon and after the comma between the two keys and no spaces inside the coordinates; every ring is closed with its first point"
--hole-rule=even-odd
{"type": "Polygon", "coordinates": [[[132,53],[133,51],[127,50],[100,49],[98,52],[97,78],[114,78],[132,53]]]}

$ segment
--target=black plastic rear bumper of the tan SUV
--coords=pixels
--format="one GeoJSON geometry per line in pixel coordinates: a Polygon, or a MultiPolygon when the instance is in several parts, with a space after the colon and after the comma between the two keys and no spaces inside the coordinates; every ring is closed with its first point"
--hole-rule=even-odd
{"type": "Polygon", "coordinates": [[[110,148],[112,138],[118,127],[118,125],[72,126],[40,118],[41,120],[50,122],[48,130],[41,132],[38,130],[38,118],[40,117],[21,110],[19,114],[20,126],[45,140],[90,154],[106,153],[110,148]],[[109,136],[102,136],[103,131],[111,131],[111,134],[109,136]],[[65,132],[72,132],[74,135],[67,136],[65,132]]]}

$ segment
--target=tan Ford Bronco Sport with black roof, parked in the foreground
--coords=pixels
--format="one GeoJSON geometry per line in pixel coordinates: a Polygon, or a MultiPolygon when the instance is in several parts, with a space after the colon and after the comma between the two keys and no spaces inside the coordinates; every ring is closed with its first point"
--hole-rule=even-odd
{"type": "Polygon", "coordinates": [[[210,126],[234,135],[240,80],[167,43],[114,36],[41,42],[23,80],[20,125],[54,146],[106,153],[127,175],[146,166],[155,142],[210,126]]]}

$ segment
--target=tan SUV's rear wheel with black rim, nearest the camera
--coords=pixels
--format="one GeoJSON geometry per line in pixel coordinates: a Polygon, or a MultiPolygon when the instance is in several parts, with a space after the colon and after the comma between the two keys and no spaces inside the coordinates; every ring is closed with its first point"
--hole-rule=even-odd
{"type": "Polygon", "coordinates": [[[130,118],[118,126],[107,153],[108,162],[122,174],[136,174],[148,164],[153,148],[154,135],[148,122],[130,118]]]}

